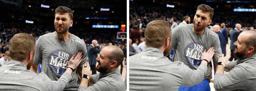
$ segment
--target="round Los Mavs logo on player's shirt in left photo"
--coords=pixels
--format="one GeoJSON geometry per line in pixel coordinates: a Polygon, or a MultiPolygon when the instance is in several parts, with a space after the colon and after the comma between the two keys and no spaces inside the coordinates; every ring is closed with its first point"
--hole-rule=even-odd
{"type": "Polygon", "coordinates": [[[55,50],[48,56],[48,66],[55,75],[61,76],[66,71],[71,57],[71,54],[65,50],[55,50]]]}

